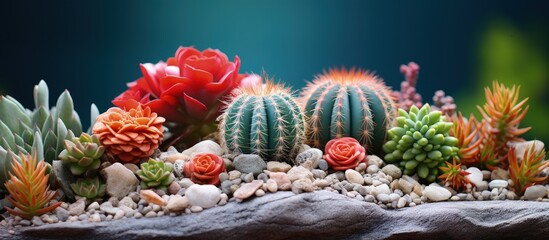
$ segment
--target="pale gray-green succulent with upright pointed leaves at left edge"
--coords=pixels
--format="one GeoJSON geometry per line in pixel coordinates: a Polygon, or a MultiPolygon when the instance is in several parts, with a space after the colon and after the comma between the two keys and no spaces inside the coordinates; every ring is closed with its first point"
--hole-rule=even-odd
{"type": "MultiPolygon", "coordinates": [[[[8,152],[32,153],[33,146],[40,144],[40,159],[51,163],[63,150],[64,140],[72,139],[82,132],[78,114],[68,91],[57,99],[56,106],[49,107],[49,91],[46,82],[34,87],[34,110],[25,109],[16,99],[0,96],[0,183],[7,180],[10,162],[8,152]]],[[[91,107],[91,120],[95,121],[98,110],[91,107]]],[[[2,187],[4,184],[0,184],[2,187]]]]}

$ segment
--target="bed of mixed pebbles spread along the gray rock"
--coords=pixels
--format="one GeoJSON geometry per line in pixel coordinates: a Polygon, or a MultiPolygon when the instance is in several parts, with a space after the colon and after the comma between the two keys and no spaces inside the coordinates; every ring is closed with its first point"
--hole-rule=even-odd
{"type": "MultiPolygon", "coordinates": [[[[222,153],[219,145],[211,141],[195,150],[222,153]]],[[[510,190],[513,182],[509,179],[509,174],[501,169],[490,172],[468,168],[467,171],[471,174],[467,178],[473,184],[468,184],[463,192],[456,192],[437,183],[422,185],[417,177],[402,175],[398,167],[386,165],[375,155],[368,156],[368,164],[361,163],[355,169],[334,172],[322,159],[323,153],[320,149],[306,145],[296,157],[294,166],[284,162],[265,163],[261,157],[253,154],[223,155],[229,171],[219,175],[221,184],[199,185],[183,177],[182,169],[177,167],[181,166],[178,161],[183,161],[178,158],[185,158],[187,154],[189,153],[181,155],[172,149],[160,156],[160,159],[175,163],[175,174],[178,176],[166,192],[140,189],[132,172],[137,166],[113,164],[110,167],[113,169],[104,174],[107,178],[107,193],[111,196],[107,201],[80,198],[75,203],[63,203],[52,213],[35,216],[31,220],[4,213],[5,219],[0,222],[0,226],[17,228],[57,222],[178,216],[222,206],[231,201],[241,202],[252,197],[262,197],[277,191],[292,191],[295,194],[331,191],[357,201],[378,204],[385,209],[414,207],[437,201],[549,201],[549,185],[529,187],[519,198],[510,190]]]]}

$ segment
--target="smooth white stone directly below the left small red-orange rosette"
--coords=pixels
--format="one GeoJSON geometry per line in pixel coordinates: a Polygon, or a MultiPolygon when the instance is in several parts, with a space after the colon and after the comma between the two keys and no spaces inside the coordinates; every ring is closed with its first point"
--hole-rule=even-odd
{"type": "Polygon", "coordinates": [[[219,202],[221,191],[214,185],[192,185],[185,192],[191,206],[211,208],[219,202]]]}

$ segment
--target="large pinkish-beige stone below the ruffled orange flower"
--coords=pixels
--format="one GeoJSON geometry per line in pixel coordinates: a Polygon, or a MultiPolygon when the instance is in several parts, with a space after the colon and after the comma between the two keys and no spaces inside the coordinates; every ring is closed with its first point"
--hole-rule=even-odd
{"type": "Polygon", "coordinates": [[[101,174],[106,179],[106,193],[112,197],[123,198],[139,185],[135,174],[120,163],[104,168],[101,174]]]}

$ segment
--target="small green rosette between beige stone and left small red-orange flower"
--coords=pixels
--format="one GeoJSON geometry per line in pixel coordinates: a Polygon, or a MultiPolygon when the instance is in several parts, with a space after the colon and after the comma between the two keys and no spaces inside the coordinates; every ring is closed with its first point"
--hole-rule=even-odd
{"type": "Polygon", "coordinates": [[[156,188],[166,190],[175,177],[172,173],[173,165],[156,161],[152,158],[141,164],[141,169],[136,174],[141,179],[141,188],[156,188]]]}

